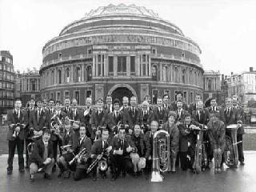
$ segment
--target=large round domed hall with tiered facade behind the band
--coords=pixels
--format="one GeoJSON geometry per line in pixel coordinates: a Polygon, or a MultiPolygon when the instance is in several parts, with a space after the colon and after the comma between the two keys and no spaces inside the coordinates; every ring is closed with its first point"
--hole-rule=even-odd
{"type": "Polygon", "coordinates": [[[46,42],[40,68],[42,97],[63,101],[182,91],[186,102],[203,92],[201,50],[173,23],[142,6],[100,6],[46,42]]]}

